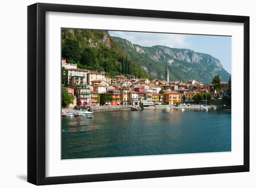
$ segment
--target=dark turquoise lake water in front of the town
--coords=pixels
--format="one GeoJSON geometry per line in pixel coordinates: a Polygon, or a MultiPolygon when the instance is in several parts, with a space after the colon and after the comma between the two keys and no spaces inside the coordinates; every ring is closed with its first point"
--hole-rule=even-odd
{"type": "Polygon", "coordinates": [[[62,117],[62,159],[231,151],[231,112],[161,109],[62,117]]]}

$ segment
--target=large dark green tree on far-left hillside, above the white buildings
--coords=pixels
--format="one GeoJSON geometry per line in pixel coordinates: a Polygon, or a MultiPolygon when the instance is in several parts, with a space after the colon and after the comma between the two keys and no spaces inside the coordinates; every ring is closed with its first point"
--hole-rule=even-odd
{"type": "Polygon", "coordinates": [[[68,63],[78,62],[81,58],[81,51],[75,40],[67,39],[62,48],[62,57],[67,59],[68,63]]]}

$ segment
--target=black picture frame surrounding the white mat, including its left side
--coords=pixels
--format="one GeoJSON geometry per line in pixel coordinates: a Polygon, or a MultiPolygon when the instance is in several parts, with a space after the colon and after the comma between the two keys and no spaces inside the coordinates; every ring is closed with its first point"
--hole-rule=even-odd
{"type": "Polygon", "coordinates": [[[27,7],[27,181],[35,185],[249,172],[249,17],[36,3],[27,7]],[[243,23],[243,165],[46,177],[46,12],[243,23]]]}

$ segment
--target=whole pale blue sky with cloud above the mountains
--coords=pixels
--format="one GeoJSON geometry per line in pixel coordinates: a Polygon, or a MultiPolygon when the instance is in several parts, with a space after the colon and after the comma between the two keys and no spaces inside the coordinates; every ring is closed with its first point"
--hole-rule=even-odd
{"type": "Polygon", "coordinates": [[[109,31],[109,34],[145,47],[162,45],[167,47],[187,48],[195,52],[210,54],[220,60],[224,69],[231,74],[231,37],[229,36],[124,31],[109,31]]]}

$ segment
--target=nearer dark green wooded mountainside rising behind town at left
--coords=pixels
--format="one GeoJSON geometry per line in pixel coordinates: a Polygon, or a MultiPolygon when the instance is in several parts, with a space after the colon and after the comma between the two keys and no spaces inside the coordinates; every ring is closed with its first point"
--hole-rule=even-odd
{"type": "Polygon", "coordinates": [[[108,76],[133,74],[138,78],[149,78],[107,31],[62,28],[61,55],[67,63],[76,63],[77,67],[88,70],[105,71],[108,76]]]}

